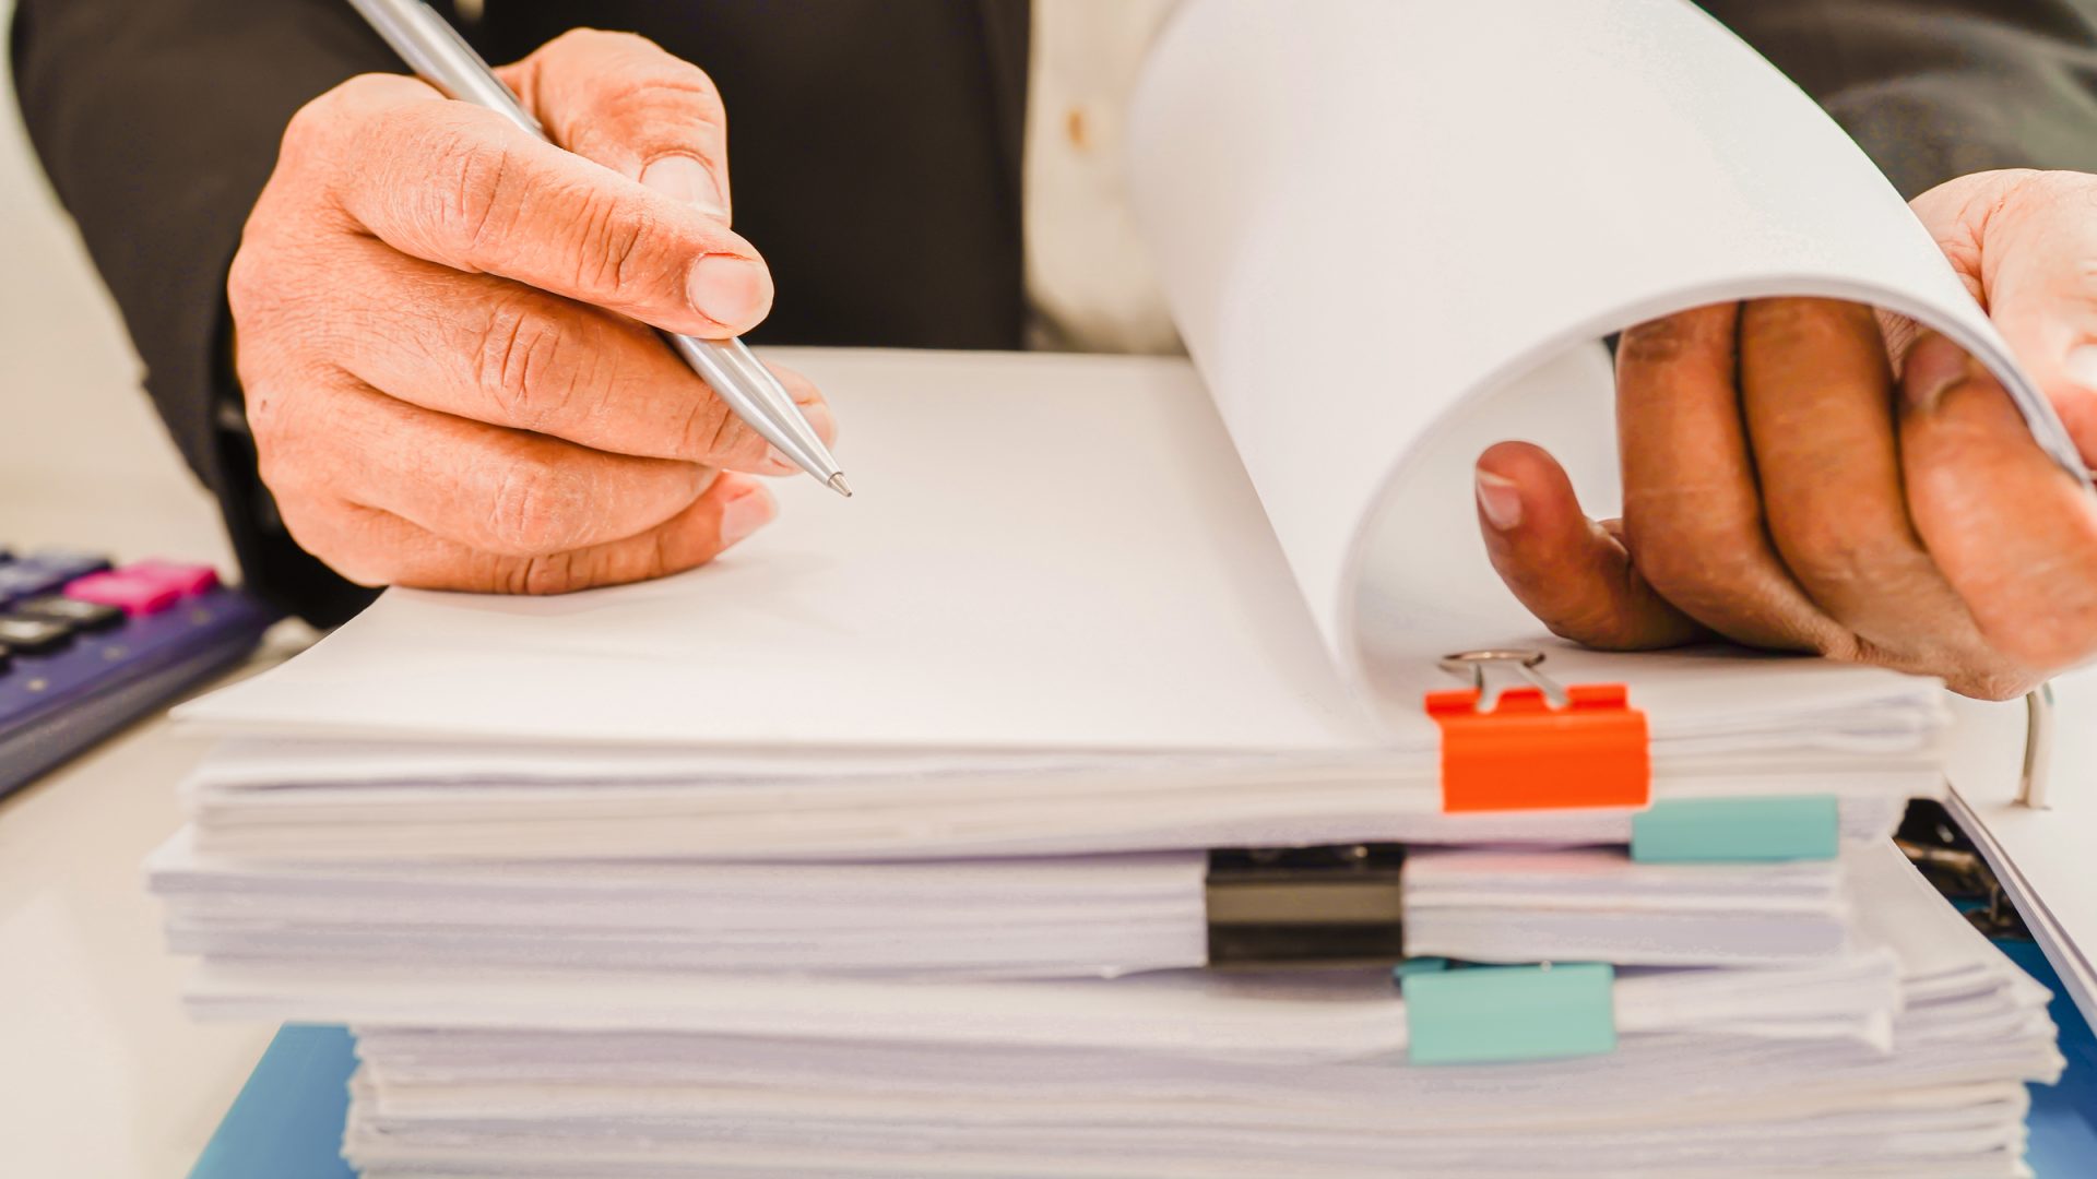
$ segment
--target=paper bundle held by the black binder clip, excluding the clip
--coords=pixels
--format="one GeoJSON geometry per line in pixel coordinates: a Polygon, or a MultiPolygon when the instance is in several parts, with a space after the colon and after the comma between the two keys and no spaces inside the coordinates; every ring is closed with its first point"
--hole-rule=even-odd
{"type": "MultiPolygon", "coordinates": [[[[151,864],[176,952],[327,965],[1084,978],[1206,963],[1199,854],[726,864],[151,864]]],[[[1785,965],[1850,946],[1835,862],[1415,852],[1407,948],[1468,961],[1785,965]]]]}

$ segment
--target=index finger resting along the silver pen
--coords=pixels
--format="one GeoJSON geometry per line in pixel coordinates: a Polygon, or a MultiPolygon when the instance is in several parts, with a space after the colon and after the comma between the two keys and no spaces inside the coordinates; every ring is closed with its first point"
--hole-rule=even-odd
{"type": "Polygon", "coordinates": [[[394,250],[690,336],[734,336],[772,308],[757,250],[694,206],[396,82],[342,88],[365,109],[344,120],[333,180],[342,210],[394,250]]]}

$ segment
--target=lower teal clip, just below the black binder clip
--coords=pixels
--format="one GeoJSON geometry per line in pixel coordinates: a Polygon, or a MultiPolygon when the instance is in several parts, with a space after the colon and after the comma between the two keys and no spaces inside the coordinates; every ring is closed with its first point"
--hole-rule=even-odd
{"type": "Polygon", "coordinates": [[[1617,1049],[1617,967],[1468,967],[1405,980],[1411,1064],[1493,1064],[1617,1049]]]}

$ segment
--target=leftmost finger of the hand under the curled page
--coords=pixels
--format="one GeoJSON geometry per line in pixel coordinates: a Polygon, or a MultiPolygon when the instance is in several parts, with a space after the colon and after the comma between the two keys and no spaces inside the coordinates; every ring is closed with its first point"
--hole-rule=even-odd
{"type": "Polygon", "coordinates": [[[1711,638],[1655,594],[1615,520],[1581,514],[1573,480],[1543,447],[1499,443],[1478,455],[1478,529],[1508,590],[1552,634],[1608,650],[1711,638]]]}

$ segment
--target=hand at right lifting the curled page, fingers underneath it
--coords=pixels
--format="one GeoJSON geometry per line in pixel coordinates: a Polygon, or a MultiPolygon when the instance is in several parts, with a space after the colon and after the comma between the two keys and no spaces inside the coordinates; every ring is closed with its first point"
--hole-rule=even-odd
{"type": "MultiPolygon", "coordinates": [[[[1977,174],[1915,212],[2097,453],[2097,176],[1977,174]]],[[[1478,459],[1493,566],[1564,638],[1728,638],[1988,699],[2097,650],[2097,506],[1942,336],[1808,298],[1644,323],[1617,430],[1623,520],[1581,516],[1537,447],[1478,459]]]]}

